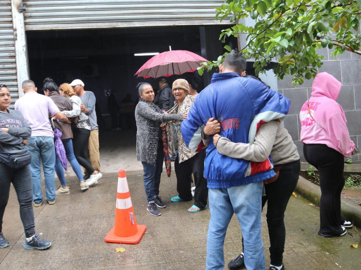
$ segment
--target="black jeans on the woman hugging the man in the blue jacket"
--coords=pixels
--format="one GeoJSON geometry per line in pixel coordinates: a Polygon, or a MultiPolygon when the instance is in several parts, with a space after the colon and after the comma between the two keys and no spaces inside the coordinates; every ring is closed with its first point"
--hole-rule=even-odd
{"type": "MultiPolygon", "coordinates": [[[[286,163],[279,171],[278,179],[265,185],[266,196],[262,197],[262,210],[267,202],[267,225],[270,238],[271,265],[280,266],[283,260],[286,228],[284,211],[295,190],[300,175],[300,161],[286,163]]],[[[243,238],[242,238],[243,245],[243,238]]]]}

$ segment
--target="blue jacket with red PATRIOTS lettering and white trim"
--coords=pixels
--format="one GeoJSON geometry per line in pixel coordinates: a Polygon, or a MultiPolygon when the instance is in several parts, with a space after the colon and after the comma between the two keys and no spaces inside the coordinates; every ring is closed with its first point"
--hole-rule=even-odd
{"type": "MultiPolygon", "coordinates": [[[[253,143],[262,122],[282,120],[290,100],[262,82],[236,73],[215,73],[211,84],[197,95],[181,124],[184,143],[197,152],[203,147],[201,132],[209,118],[221,123],[222,137],[234,143],[253,143]]],[[[219,154],[212,143],[206,150],[204,177],[208,188],[230,188],[273,177],[271,158],[250,162],[219,154]]]]}

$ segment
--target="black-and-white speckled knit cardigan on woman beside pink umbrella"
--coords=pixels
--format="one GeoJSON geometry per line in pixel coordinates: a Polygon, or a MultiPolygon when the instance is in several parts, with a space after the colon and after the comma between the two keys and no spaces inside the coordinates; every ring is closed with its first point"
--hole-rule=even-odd
{"type": "Polygon", "coordinates": [[[139,98],[135,107],[136,121],[136,157],[138,161],[155,165],[158,141],[160,140],[160,124],[166,121],[182,121],[182,114],[164,114],[157,105],[139,98]]]}

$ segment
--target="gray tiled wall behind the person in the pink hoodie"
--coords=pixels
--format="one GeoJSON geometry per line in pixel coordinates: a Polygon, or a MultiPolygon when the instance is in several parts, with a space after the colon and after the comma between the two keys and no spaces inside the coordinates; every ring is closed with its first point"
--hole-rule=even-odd
{"type": "MultiPolygon", "coordinates": [[[[347,118],[347,127],[351,139],[361,148],[361,56],[345,51],[336,59],[331,58],[332,50],[320,49],[319,54],[325,56],[323,65],[318,72],[328,72],[342,82],[342,88],[337,102],[342,106],[347,118]]],[[[310,98],[313,80],[305,80],[303,85],[291,83],[292,76],[285,76],[278,81],[278,91],[291,99],[290,113],[284,126],[291,134],[299,150],[301,161],[304,160],[303,144],[300,141],[301,126],[299,113],[303,103],[310,98]]],[[[361,163],[361,154],[352,156],[353,161],[361,163]]]]}

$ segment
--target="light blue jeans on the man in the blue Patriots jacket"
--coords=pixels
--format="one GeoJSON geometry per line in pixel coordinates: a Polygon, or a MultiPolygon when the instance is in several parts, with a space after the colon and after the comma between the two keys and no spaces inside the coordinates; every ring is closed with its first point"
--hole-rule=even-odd
{"type": "Polygon", "coordinates": [[[227,189],[209,189],[206,270],[221,270],[225,266],[223,244],[233,213],[242,228],[247,270],[266,269],[261,238],[262,187],[263,181],[258,181],[227,189]]]}

